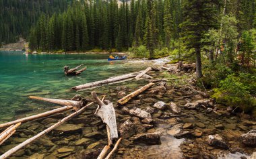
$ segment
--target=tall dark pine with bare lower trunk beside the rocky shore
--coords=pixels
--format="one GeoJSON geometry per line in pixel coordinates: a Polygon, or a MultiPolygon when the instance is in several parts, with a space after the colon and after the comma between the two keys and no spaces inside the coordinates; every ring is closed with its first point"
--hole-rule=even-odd
{"type": "Polygon", "coordinates": [[[216,27],[218,1],[185,0],[183,1],[183,36],[187,48],[195,49],[197,78],[203,76],[201,71],[201,41],[209,28],[216,27]]]}

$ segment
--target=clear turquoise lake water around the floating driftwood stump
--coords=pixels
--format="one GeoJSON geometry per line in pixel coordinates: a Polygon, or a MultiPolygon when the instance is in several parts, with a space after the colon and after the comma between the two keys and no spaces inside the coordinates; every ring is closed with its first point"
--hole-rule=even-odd
{"type": "MultiPolygon", "coordinates": [[[[30,54],[0,52],[0,123],[52,109],[53,105],[28,99],[29,95],[70,99],[75,85],[141,70],[127,61],[108,62],[108,54],[30,54]],[[65,76],[63,66],[84,64],[79,76],[65,76]],[[128,68],[129,66],[129,68],[128,68]],[[28,111],[29,110],[29,111],[28,111]],[[32,111],[31,111],[32,110],[32,111]],[[22,112],[26,111],[26,112],[22,112]]],[[[90,91],[79,92],[88,95],[90,91]]]]}

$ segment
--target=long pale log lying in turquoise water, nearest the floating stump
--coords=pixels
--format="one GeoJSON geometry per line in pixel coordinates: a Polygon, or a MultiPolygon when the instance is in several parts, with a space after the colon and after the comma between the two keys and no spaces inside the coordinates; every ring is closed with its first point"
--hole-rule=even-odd
{"type": "Polygon", "coordinates": [[[75,91],[79,91],[79,90],[82,90],[82,89],[89,89],[89,88],[99,87],[99,86],[106,85],[106,84],[109,84],[109,83],[115,83],[117,81],[123,81],[123,80],[126,80],[128,78],[134,78],[139,73],[140,72],[134,72],[134,73],[130,73],[130,74],[124,74],[124,75],[121,75],[121,76],[115,76],[113,78],[108,78],[106,80],[96,81],[96,82],[93,82],[93,83],[86,83],[84,85],[75,86],[71,89],[73,89],[75,91]]]}

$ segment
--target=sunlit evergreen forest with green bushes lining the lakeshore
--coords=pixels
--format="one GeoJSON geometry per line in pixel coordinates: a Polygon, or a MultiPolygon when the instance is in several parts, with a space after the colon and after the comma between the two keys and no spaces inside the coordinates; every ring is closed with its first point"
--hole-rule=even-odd
{"type": "Polygon", "coordinates": [[[196,62],[198,85],[215,88],[218,103],[256,114],[255,27],[254,0],[75,1],[42,14],[29,42],[43,52],[129,50],[196,62]]]}

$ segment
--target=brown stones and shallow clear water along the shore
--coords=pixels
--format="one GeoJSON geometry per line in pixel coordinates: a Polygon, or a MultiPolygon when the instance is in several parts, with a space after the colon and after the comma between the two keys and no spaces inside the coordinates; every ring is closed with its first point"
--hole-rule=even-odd
{"type": "MultiPolygon", "coordinates": [[[[193,85],[193,69],[149,73],[156,83],[124,106],[116,101],[131,93],[129,83],[108,86],[107,99],[115,105],[119,134],[123,137],[115,158],[221,158],[236,154],[249,158],[256,152],[256,121],[249,115],[232,113],[193,85]],[[176,85],[186,76],[190,87],[176,85]]],[[[89,96],[88,96],[89,97],[89,96]]],[[[96,105],[57,127],[11,158],[97,158],[107,144],[104,123],[94,115],[96,105]]],[[[68,113],[68,112],[67,112],[68,113]]],[[[1,146],[0,154],[46,129],[67,113],[22,124],[13,138],[1,146]]]]}

